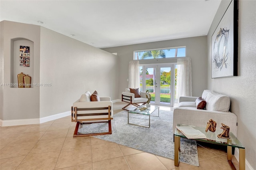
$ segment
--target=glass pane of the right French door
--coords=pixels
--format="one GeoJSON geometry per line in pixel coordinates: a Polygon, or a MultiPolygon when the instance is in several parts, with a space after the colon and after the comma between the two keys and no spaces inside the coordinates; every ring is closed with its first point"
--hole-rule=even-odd
{"type": "Polygon", "coordinates": [[[160,68],[160,103],[170,104],[171,99],[171,67],[160,68]]]}

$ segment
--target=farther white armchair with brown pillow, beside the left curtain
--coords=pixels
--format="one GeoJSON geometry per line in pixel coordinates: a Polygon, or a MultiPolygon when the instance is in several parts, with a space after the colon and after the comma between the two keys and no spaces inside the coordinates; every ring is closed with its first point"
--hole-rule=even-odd
{"type": "Polygon", "coordinates": [[[146,104],[148,101],[148,98],[146,97],[146,92],[141,92],[140,91],[140,97],[135,97],[134,93],[130,92],[130,89],[125,89],[125,92],[122,92],[122,101],[128,103],[125,107],[122,109],[129,111],[126,109],[129,105],[134,105],[138,107],[139,103],[142,103],[142,105],[146,104]]]}

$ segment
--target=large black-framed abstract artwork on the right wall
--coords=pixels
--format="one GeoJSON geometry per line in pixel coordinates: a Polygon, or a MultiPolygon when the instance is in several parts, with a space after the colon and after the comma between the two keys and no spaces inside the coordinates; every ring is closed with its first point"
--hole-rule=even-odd
{"type": "Polygon", "coordinates": [[[212,34],[212,78],[238,75],[238,0],[232,0],[212,34]]]}

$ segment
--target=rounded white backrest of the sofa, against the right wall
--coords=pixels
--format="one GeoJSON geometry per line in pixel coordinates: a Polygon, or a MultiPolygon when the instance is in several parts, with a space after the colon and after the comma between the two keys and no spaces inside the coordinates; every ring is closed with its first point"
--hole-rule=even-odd
{"type": "Polygon", "coordinates": [[[204,90],[202,98],[206,101],[206,110],[228,112],[230,98],[211,90],[204,90]]]}

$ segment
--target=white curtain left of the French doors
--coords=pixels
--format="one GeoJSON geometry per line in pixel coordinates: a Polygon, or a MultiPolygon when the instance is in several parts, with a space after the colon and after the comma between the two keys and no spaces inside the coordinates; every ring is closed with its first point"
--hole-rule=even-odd
{"type": "Polygon", "coordinates": [[[133,60],[129,62],[129,87],[136,89],[140,87],[140,62],[138,60],[133,60]]]}

